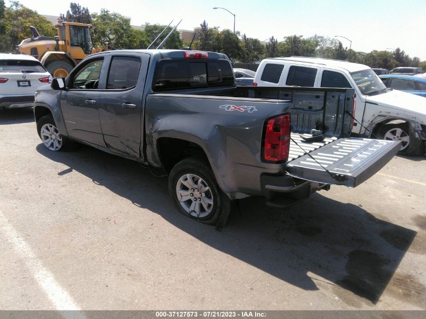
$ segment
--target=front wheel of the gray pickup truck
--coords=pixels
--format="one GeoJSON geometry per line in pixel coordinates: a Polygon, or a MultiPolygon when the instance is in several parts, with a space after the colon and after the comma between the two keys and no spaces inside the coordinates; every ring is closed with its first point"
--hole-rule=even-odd
{"type": "Polygon", "coordinates": [[[37,121],[37,133],[43,145],[50,151],[70,149],[71,141],[59,134],[52,115],[47,114],[37,121]]]}

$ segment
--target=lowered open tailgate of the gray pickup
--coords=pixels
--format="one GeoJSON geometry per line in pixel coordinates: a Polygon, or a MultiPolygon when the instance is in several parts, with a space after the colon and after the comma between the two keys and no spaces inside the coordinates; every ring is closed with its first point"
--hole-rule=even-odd
{"type": "Polygon", "coordinates": [[[287,163],[287,174],[319,183],[355,187],[369,179],[401,149],[400,142],[362,138],[333,141],[287,163]]]}

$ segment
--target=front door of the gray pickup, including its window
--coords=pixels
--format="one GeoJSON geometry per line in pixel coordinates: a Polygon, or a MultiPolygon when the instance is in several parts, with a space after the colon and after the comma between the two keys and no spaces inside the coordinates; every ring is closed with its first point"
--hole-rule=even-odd
{"type": "Polygon", "coordinates": [[[60,107],[68,134],[105,146],[99,122],[98,83],[103,58],[90,59],[70,75],[68,90],[60,95],[60,107]]]}

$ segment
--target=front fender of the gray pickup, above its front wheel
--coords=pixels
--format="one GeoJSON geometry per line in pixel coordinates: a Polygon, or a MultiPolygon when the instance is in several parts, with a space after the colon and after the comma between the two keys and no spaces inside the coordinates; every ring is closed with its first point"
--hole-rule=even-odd
{"type": "Polygon", "coordinates": [[[59,134],[68,136],[64,117],[60,110],[60,92],[60,90],[51,89],[48,85],[37,90],[34,97],[34,117],[37,121],[45,114],[46,109],[49,110],[53,116],[59,134]]]}

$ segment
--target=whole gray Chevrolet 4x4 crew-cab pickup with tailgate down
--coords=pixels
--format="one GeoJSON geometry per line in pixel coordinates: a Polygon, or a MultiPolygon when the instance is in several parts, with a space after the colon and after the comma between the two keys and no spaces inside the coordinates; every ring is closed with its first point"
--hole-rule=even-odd
{"type": "Polygon", "coordinates": [[[286,207],[330,184],[354,187],[399,142],[349,138],[353,89],[238,87],[226,55],[92,54],[35,95],[43,144],[81,142],[168,174],[177,209],[217,224],[232,200],[286,207]]]}

